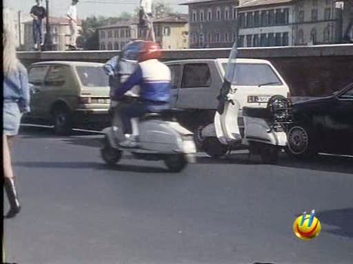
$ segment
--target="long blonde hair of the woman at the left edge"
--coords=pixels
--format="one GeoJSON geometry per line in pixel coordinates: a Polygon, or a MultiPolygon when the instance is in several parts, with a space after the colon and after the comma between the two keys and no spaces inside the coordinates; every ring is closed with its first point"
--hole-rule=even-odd
{"type": "Polygon", "coordinates": [[[8,76],[15,72],[19,60],[16,55],[16,35],[14,20],[9,10],[3,10],[3,73],[8,76]]]}

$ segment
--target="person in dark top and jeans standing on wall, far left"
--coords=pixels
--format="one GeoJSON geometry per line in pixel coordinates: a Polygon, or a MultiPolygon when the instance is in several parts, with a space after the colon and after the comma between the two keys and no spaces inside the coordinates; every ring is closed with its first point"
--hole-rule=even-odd
{"type": "Polygon", "coordinates": [[[30,10],[30,16],[33,18],[33,43],[34,50],[39,50],[43,44],[43,19],[47,16],[46,8],[41,6],[41,0],[36,0],[30,10]]]}

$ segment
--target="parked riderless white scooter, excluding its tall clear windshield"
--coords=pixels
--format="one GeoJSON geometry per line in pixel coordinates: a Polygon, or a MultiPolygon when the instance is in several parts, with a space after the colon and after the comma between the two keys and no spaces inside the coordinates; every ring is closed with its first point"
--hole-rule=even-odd
{"type": "Polygon", "coordinates": [[[287,127],[292,122],[292,105],[284,96],[272,96],[266,108],[243,107],[244,131],[239,129],[239,102],[229,89],[214,116],[214,124],[201,133],[203,148],[211,157],[220,157],[233,149],[248,148],[250,155],[260,154],[264,163],[274,164],[281,148],[287,146],[287,127]],[[216,135],[216,137],[214,137],[216,135]]]}

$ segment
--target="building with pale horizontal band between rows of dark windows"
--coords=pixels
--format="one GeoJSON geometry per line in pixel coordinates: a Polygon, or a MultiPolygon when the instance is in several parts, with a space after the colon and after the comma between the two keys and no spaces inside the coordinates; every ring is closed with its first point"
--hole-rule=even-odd
{"type": "Polygon", "coordinates": [[[291,0],[240,1],[238,47],[293,45],[291,0]]]}

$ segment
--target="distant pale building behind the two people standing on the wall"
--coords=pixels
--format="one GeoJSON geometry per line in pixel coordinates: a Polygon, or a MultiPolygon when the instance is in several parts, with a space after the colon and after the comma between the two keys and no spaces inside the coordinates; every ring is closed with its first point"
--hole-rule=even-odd
{"type": "MultiPolygon", "coordinates": [[[[50,33],[52,35],[52,50],[68,50],[70,44],[70,25],[65,17],[49,17],[50,33]]],[[[78,21],[78,32],[81,30],[81,20],[78,21]]],[[[46,19],[43,21],[43,38],[46,35],[46,19]]],[[[33,50],[33,21],[24,23],[25,50],[33,50]]]]}

